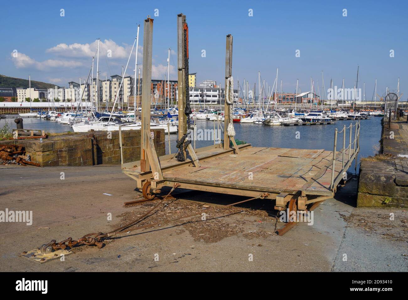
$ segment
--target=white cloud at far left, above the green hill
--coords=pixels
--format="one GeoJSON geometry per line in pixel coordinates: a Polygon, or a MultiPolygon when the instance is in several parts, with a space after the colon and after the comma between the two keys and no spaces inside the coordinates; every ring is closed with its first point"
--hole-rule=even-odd
{"type": "Polygon", "coordinates": [[[15,56],[15,53],[13,52],[10,54],[11,59],[13,60],[13,63],[17,68],[33,67],[38,70],[47,70],[51,68],[76,68],[82,66],[82,62],[78,62],[75,60],[49,59],[38,62],[24,53],[18,53],[17,56],[15,56]]]}

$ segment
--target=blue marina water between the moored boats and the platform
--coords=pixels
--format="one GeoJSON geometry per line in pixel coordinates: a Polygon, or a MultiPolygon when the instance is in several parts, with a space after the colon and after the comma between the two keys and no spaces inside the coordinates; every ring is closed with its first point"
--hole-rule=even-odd
{"type": "MultiPolygon", "coordinates": [[[[381,139],[381,119],[372,117],[368,120],[361,120],[360,129],[360,153],[359,158],[374,155],[379,149],[379,140],[381,139]]],[[[73,131],[69,125],[58,122],[48,121],[40,118],[23,118],[24,128],[40,129],[46,132],[65,132],[73,131]]],[[[8,122],[11,128],[16,128],[14,118],[0,119],[0,127],[8,122]]],[[[349,126],[355,123],[353,120],[338,120],[335,124],[326,125],[307,125],[307,126],[268,126],[257,124],[234,123],[236,132],[235,138],[251,143],[256,147],[278,147],[278,148],[298,148],[298,149],[325,149],[333,151],[334,132],[339,131],[343,125],[349,126]]],[[[197,131],[204,129],[213,129],[217,131],[217,122],[197,120],[197,131]]],[[[224,122],[220,122],[220,127],[224,129],[224,122]]],[[[348,133],[346,134],[346,145],[348,145],[348,133]]],[[[221,131],[221,138],[223,133],[221,131]]],[[[354,138],[354,127],[353,127],[354,138]]],[[[166,134],[166,153],[169,153],[168,135],[166,134]]],[[[170,135],[171,153],[177,151],[177,134],[170,135]]],[[[340,133],[337,137],[337,151],[341,150],[343,136],[340,133]]],[[[214,144],[213,140],[197,140],[195,147],[204,147],[214,144]]],[[[354,171],[353,167],[349,171],[354,171]]],[[[357,167],[358,172],[358,167],[357,167]]]]}

